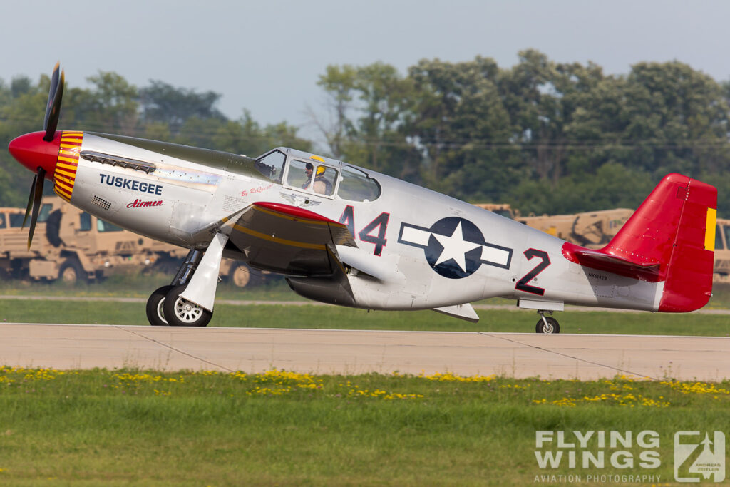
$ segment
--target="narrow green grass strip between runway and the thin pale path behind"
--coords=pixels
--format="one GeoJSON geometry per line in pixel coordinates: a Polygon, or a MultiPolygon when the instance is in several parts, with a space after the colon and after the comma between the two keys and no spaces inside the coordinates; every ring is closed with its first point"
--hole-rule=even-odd
{"type": "MultiPolygon", "coordinates": [[[[404,331],[534,331],[537,313],[526,310],[478,310],[479,323],[433,311],[354,310],[336,306],[217,304],[210,326],[253,328],[372,329],[404,331]]],[[[730,336],[723,315],[570,311],[556,315],[563,333],[730,336]]],[[[147,326],[145,305],[117,302],[44,302],[0,300],[0,322],[78,323],[147,326]]]]}

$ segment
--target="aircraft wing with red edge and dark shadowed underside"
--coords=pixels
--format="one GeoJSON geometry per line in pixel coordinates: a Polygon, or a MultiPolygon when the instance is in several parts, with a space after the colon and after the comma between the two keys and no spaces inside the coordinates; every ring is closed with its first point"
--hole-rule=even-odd
{"type": "Polygon", "coordinates": [[[347,226],[288,204],[256,202],[222,223],[245,261],[283,274],[332,275],[342,266],[334,245],[357,246],[347,226]]]}

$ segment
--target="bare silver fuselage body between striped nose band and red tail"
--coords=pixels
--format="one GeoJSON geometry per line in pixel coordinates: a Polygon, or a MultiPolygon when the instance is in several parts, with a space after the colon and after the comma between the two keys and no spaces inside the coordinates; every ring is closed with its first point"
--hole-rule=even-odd
{"type": "MultiPolygon", "coordinates": [[[[307,156],[281,150],[287,153],[287,164],[307,156]]],[[[380,185],[380,196],[351,201],[336,190],[333,196],[322,196],[269,180],[254,169],[252,159],[233,154],[90,133],[84,134],[81,153],[145,161],[156,169],[147,173],[80,157],[72,204],[138,234],[187,248],[206,248],[210,237],[201,230],[260,201],[302,207],[332,221],[347,217],[357,248],[338,250],[345,264],[364,271],[347,274],[357,307],[429,309],[504,296],[657,310],[664,288],[664,283],[586,269],[564,258],[561,239],[369,169],[361,170],[380,185]],[[379,222],[369,232],[372,238],[361,235],[372,222],[379,222]],[[455,223],[458,227],[452,229],[455,223]],[[377,239],[381,230],[384,238],[377,239]],[[454,258],[437,263],[439,246],[447,245],[454,258]],[[461,251],[464,258],[458,255],[461,251]],[[534,272],[537,266],[541,269],[534,272]]],[[[350,166],[319,160],[340,171],[350,166]]],[[[247,260],[237,250],[227,249],[224,256],[247,260]]]]}

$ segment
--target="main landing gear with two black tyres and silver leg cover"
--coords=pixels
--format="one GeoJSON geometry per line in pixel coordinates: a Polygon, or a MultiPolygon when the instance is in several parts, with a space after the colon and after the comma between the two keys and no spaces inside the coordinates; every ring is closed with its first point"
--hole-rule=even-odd
{"type": "Polygon", "coordinates": [[[147,320],[152,326],[207,326],[210,323],[226,240],[226,235],[216,234],[205,252],[191,250],[172,283],[155,289],[147,299],[147,320]]]}

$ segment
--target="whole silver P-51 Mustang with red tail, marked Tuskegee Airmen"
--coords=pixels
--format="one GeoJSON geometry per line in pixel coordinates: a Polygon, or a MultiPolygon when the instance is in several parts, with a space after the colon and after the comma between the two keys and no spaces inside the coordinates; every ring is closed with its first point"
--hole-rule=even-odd
{"type": "Polygon", "coordinates": [[[353,164],[277,147],[258,158],[165,142],[57,131],[58,65],[43,131],[9,150],[82,210],[190,249],[147,302],[153,325],[206,326],[222,257],[279,272],[296,293],[370,310],[436,310],[476,322],[493,296],[537,310],[558,333],[564,304],[685,312],[712,292],[717,190],[672,174],[606,247],[590,250],[353,164]],[[545,314],[548,314],[547,316],[545,314]]]}

